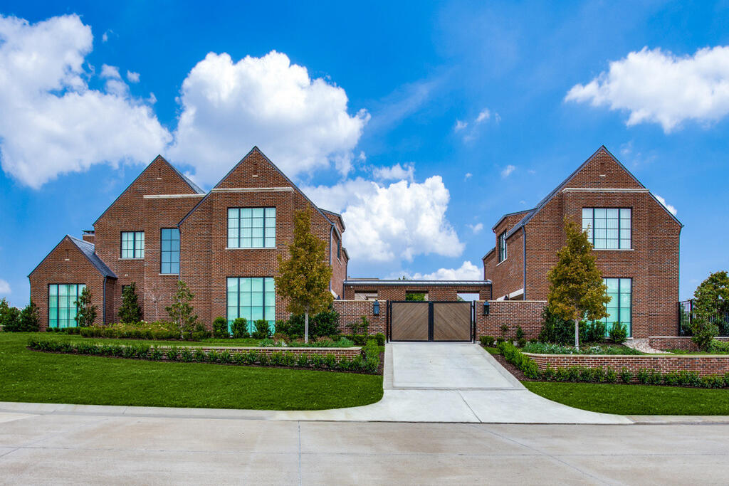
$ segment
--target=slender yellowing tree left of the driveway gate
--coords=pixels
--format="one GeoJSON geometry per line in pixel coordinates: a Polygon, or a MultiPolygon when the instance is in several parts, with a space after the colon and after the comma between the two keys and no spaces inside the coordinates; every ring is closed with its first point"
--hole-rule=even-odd
{"type": "Polygon", "coordinates": [[[297,211],[289,258],[278,256],[276,293],[289,299],[286,310],[304,315],[304,342],[309,340],[309,314],[323,312],[332,303],[331,280],[327,243],[311,232],[311,209],[297,211]]]}

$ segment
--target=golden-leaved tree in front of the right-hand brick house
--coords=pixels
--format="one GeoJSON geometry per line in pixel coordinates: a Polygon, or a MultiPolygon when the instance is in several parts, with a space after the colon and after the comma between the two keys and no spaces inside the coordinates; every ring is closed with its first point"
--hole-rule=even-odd
{"type": "Polygon", "coordinates": [[[607,286],[597,267],[587,232],[564,218],[566,244],[557,252],[558,262],[549,271],[550,311],[574,321],[574,347],[580,347],[580,321],[607,317],[605,305],[610,302],[607,286]]]}

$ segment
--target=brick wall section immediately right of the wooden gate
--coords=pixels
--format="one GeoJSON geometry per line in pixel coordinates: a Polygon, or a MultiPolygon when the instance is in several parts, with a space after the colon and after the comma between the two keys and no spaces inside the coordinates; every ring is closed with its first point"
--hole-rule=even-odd
{"type": "Polygon", "coordinates": [[[483,301],[476,302],[476,338],[502,336],[501,326],[507,324],[507,337],[513,337],[521,326],[527,340],[536,339],[542,330],[542,310],[547,302],[533,300],[491,300],[488,315],[483,315],[483,301]]]}

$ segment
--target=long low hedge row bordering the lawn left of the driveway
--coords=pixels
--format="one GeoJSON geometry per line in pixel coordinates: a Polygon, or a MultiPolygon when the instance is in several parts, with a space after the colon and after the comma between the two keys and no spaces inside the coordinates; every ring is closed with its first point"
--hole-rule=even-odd
{"type": "Polygon", "coordinates": [[[375,341],[367,342],[362,348],[362,355],[337,359],[333,354],[302,354],[295,356],[288,351],[264,353],[259,350],[230,353],[230,351],[204,351],[192,347],[170,346],[159,348],[147,344],[117,345],[98,344],[95,342],[59,342],[55,340],[31,339],[28,348],[50,353],[85,354],[90,356],[114,356],[117,358],[136,358],[148,361],[179,361],[182,363],[214,363],[238,364],[271,367],[300,367],[314,369],[330,369],[333,371],[350,371],[359,373],[375,373],[380,367],[380,353],[375,341]]]}

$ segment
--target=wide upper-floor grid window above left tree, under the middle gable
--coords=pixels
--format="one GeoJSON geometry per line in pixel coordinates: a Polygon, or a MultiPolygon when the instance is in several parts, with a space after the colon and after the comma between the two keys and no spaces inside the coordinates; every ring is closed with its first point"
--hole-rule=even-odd
{"type": "Polygon", "coordinates": [[[276,248],[276,208],[228,208],[228,248],[276,248]]]}

